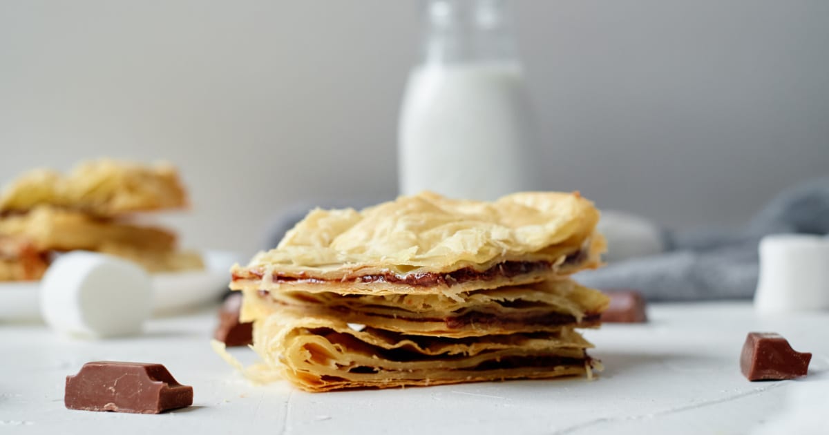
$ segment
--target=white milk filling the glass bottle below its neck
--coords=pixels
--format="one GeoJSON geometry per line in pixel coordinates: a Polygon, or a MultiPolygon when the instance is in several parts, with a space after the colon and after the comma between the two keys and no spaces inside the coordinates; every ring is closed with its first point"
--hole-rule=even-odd
{"type": "Polygon", "coordinates": [[[399,128],[400,193],[493,200],[533,187],[530,110],[517,61],[412,71],[399,128]]]}

